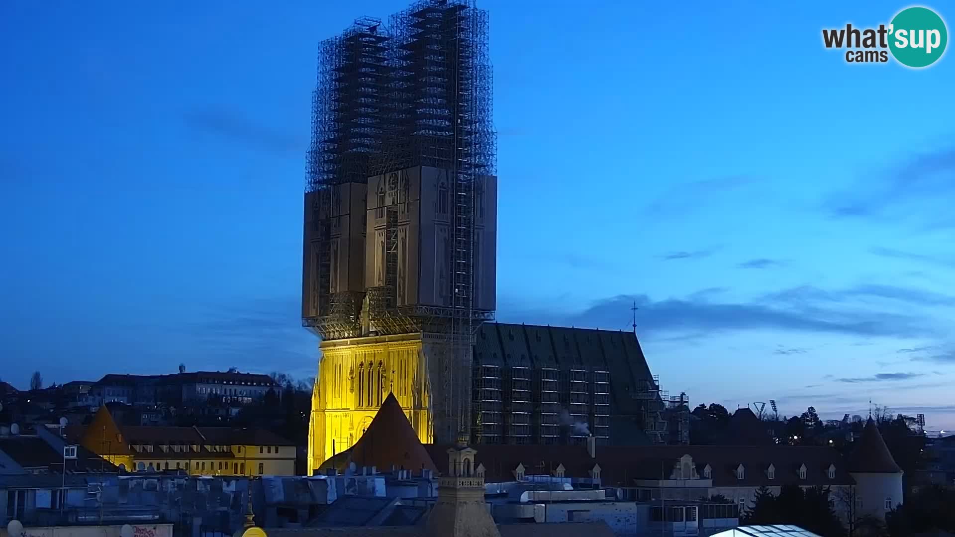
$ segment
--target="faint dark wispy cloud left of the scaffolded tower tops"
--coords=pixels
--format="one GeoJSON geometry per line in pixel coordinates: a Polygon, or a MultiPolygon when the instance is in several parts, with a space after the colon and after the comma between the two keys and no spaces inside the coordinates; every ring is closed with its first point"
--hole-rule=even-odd
{"type": "Polygon", "coordinates": [[[258,124],[235,110],[199,107],[186,112],[183,119],[197,131],[238,141],[254,149],[300,156],[308,149],[308,140],[258,124]]]}

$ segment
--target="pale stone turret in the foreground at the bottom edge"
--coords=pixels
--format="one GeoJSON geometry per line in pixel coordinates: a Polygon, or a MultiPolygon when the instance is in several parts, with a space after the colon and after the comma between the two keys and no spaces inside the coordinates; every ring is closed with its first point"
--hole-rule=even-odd
{"type": "Polygon", "coordinates": [[[448,449],[448,472],[438,480],[437,502],[425,525],[428,537],[500,537],[484,504],[484,466],[475,466],[477,451],[461,433],[448,449]]]}

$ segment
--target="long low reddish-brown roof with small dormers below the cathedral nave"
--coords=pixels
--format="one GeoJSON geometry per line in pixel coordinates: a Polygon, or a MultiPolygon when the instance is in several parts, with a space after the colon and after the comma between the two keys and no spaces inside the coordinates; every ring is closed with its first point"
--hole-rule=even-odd
{"type": "MultiPolygon", "coordinates": [[[[433,459],[444,461],[449,446],[426,444],[433,459]]],[[[591,459],[583,445],[477,445],[476,463],[483,463],[485,480],[513,481],[513,471],[523,464],[525,473],[550,474],[563,464],[565,476],[589,477],[594,464],[601,468],[601,481],[606,485],[632,485],[633,480],[659,480],[661,473],[669,477],[679,459],[690,455],[697,472],[703,477],[707,464],[711,467],[713,486],[768,486],[786,483],[825,485],[854,483],[846,463],[838,452],[823,446],[719,446],[719,445],[649,445],[597,446],[597,457],[591,459]],[[744,477],[736,479],[736,468],[743,464],[744,477]],[[773,464],[775,476],[767,470],[773,464]],[[799,478],[799,467],[806,465],[806,479],[799,478]],[[829,466],[836,468],[836,478],[829,479],[829,466]]]]}

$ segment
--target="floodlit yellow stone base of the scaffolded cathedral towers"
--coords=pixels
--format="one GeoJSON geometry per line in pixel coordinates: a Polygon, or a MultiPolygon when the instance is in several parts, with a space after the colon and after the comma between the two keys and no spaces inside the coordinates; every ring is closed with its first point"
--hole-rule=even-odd
{"type": "Polygon", "coordinates": [[[356,337],[320,344],[308,425],[308,474],[350,448],[389,392],[418,440],[434,438],[428,358],[421,333],[356,337]]]}

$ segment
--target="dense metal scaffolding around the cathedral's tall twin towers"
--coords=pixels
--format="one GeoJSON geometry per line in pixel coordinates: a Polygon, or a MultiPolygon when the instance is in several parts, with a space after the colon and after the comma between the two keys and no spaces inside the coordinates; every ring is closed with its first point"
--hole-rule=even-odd
{"type": "MultiPolygon", "coordinates": [[[[397,211],[386,208],[385,282],[365,297],[336,296],[329,289],[332,261],[327,224],[313,223],[317,243],[315,315],[303,319],[324,338],[361,332],[367,298],[374,332],[434,333],[445,352],[430,373],[435,441],[460,433],[480,436],[480,408],[472,386],[472,348],[477,327],[493,311],[475,310],[475,204],[478,183],[495,174],[497,137],[492,123],[492,70],[487,11],[473,0],[418,0],[380,19],[357,19],[319,47],[319,74],[312,99],[312,138],[306,190],[326,203],[325,191],[343,183],[414,166],[444,170],[450,184],[450,303],[398,306],[397,211]],[[440,376],[436,378],[435,376],[440,376]]],[[[307,238],[307,241],[309,239],[307,238]]],[[[368,237],[367,240],[371,240],[368,237]]]]}

